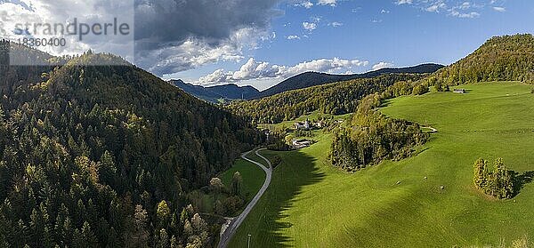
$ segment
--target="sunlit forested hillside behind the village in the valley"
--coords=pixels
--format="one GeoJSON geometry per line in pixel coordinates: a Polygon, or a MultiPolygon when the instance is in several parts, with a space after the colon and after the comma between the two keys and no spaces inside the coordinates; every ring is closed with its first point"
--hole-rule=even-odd
{"type": "MultiPolygon", "coordinates": [[[[388,86],[401,81],[417,81],[425,74],[388,74],[375,78],[325,84],[259,100],[232,102],[229,108],[239,116],[246,116],[255,123],[279,123],[304,113],[319,110],[325,114],[352,113],[358,101],[375,92],[383,92],[388,86]]],[[[411,93],[412,89],[407,89],[411,93]]]]}

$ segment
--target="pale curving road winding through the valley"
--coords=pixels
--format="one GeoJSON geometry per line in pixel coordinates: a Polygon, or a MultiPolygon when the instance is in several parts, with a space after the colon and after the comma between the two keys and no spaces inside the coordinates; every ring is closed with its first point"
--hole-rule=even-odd
{"type": "Polygon", "coordinates": [[[269,165],[269,168],[265,167],[263,164],[260,164],[259,162],[256,162],[256,161],[254,161],[252,159],[249,159],[247,157],[247,155],[249,153],[251,153],[252,151],[247,151],[246,153],[241,155],[241,157],[243,159],[247,160],[248,162],[250,162],[252,164],[258,165],[260,168],[263,169],[263,171],[266,174],[265,181],[263,182],[262,188],[260,188],[260,190],[254,196],[252,201],[250,201],[250,203],[247,204],[247,208],[245,208],[245,210],[243,212],[241,212],[241,214],[239,214],[239,216],[237,218],[234,218],[233,220],[231,220],[230,225],[228,226],[228,228],[226,228],[224,230],[223,234],[221,235],[221,240],[219,241],[219,244],[217,245],[217,247],[219,247],[219,248],[226,248],[228,246],[228,244],[231,241],[231,237],[235,235],[235,233],[238,230],[239,226],[241,225],[241,223],[243,223],[243,220],[245,220],[245,218],[247,218],[248,213],[250,211],[252,211],[252,209],[254,208],[255,204],[258,202],[258,200],[260,200],[260,198],[263,196],[263,193],[265,193],[265,190],[267,190],[267,188],[269,187],[269,184],[271,184],[271,177],[272,177],[272,165],[271,165],[271,162],[269,161],[269,159],[265,158],[264,156],[262,156],[262,155],[260,155],[258,153],[259,151],[264,150],[264,149],[265,148],[256,150],[255,154],[257,156],[261,157],[263,160],[265,160],[265,162],[267,162],[267,164],[269,165]]]}

